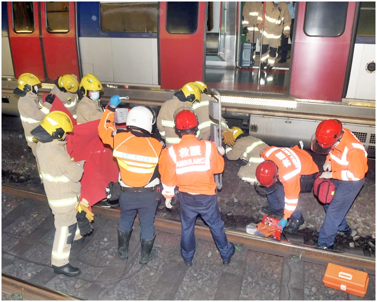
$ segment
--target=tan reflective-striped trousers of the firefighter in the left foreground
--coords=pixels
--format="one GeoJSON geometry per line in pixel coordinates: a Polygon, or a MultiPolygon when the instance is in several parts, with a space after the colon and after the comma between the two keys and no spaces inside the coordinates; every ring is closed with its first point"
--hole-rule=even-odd
{"type": "Polygon", "coordinates": [[[80,230],[77,227],[76,204],[62,207],[52,206],[51,204],[49,205],[54,214],[55,225],[51,264],[55,266],[63,266],[70,262],[69,258],[73,240],[79,240],[82,237],[80,230]]]}

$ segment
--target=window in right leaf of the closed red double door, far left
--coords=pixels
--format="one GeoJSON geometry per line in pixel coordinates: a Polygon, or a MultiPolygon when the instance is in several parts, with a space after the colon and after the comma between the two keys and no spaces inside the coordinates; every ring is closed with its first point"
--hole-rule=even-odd
{"type": "Polygon", "coordinates": [[[46,28],[50,33],[68,33],[70,30],[69,2],[46,2],[46,28]]]}

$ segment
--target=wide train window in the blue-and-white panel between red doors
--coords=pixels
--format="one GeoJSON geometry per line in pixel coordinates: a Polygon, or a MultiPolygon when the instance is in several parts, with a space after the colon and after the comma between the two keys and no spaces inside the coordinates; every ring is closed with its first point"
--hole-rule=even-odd
{"type": "Polygon", "coordinates": [[[113,33],[157,33],[158,2],[101,3],[101,28],[113,33]]]}

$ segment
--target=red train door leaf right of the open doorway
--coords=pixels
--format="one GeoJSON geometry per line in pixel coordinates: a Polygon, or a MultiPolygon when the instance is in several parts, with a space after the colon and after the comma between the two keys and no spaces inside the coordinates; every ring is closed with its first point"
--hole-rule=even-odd
{"type": "Polygon", "coordinates": [[[291,96],[341,101],[355,2],[301,2],[291,69],[291,96]],[[326,24],[326,26],[323,26],[326,24]]]}

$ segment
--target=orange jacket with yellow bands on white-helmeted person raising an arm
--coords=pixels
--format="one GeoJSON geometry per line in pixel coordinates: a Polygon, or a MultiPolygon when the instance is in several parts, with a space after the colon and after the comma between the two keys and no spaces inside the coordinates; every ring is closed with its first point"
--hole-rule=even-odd
{"type": "Polygon", "coordinates": [[[153,137],[135,136],[117,128],[114,123],[115,108],[108,107],[98,125],[98,134],[105,144],[113,148],[122,181],[130,187],[144,187],[151,179],[161,154],[162,145],[153,137]]]}

